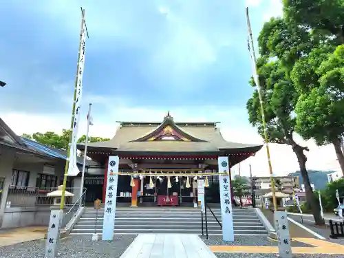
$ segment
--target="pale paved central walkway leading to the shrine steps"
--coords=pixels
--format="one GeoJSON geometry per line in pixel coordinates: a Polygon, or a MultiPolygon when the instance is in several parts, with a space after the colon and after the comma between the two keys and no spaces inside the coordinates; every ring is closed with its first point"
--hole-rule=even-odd
{"type": "Polygon", "coordinates": [[[197,235],[140,234],[120,258],[216,258],[197,235]]]}

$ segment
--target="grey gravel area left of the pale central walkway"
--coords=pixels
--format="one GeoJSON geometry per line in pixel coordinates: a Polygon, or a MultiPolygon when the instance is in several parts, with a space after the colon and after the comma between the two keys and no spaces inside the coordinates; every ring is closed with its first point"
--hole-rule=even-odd
{"type": "MultiPolygon", "coordinates": [[[[114,241],[92,241],[92,236],[61,239],[57,258],[119,258],[136,235],[116,235],[114,241]],[[72,248],[71,248],[72,247],[72,248]]],[[[0,248],[0,258],[44,258],[45,241],[36,240],[0,248]]]]}

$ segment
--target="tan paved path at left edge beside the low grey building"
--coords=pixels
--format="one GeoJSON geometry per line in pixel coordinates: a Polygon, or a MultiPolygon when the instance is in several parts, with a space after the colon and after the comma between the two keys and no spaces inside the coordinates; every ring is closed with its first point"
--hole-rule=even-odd
{"type": "Polygon", "coordinates": [[[11,246],[45,237],[46,227],[25,227],[0,230],[0,246],[11,246]]]}

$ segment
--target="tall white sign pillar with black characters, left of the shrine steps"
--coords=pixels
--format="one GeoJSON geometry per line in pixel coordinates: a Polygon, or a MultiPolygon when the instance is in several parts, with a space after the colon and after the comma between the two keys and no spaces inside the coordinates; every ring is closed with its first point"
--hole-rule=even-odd
{"type": "Polygon", "coordinates": [[[107,166],[107,190],[103,220],[103,240],[114,239],[119,162],[120,159],[118,156],[109,156],[109,163],[107,166]]]}

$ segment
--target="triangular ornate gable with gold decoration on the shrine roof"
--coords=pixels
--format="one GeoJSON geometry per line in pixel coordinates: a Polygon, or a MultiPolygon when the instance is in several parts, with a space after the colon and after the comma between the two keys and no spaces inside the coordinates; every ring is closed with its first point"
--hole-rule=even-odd
{"type": "Polygon", "coordinates": [[[180,127],[175,125],[175,122],[173,122],[173,118],[170,116],[169,112],[167,113],[167,116],[164,117],[162,124],[157,129],[131,142],[151,142],[164,140],[207,142],[206,140],[189,135],[189,133],[186,133],[180,127]]]}

